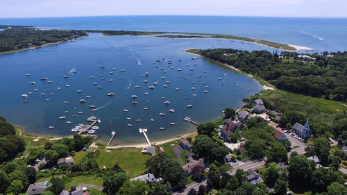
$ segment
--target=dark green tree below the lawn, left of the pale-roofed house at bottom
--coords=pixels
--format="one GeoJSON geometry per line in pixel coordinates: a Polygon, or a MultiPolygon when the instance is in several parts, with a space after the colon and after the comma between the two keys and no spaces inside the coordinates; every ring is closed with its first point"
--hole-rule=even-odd
{"type": "Polygon", "coordinates": [[[106,194],[116,194],[119,188],[124,185],[126,180],[128,180],[126,173],[120,172],[115,173],[112,176],[108,176],[103,180],[103,188],[106,194]]]}

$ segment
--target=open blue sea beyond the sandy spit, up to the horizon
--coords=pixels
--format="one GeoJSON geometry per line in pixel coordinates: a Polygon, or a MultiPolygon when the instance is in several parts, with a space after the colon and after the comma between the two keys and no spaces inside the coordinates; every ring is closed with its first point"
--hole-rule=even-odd
{"type": "Polygon", "coordinates": [[[65,29],[223,33],[309,46],[317,51],[347,50],[347,19],[211,16],[110,16],[0,19],[65,29]]]}

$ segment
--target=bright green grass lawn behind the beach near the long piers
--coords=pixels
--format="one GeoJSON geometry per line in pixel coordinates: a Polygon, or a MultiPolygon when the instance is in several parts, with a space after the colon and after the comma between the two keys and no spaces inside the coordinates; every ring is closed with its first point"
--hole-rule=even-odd
{"type": "Polygon", "coordinates": [[[106,150],[100,150],[99,156],[96,158],[96,162],[98,162],[101,168],[112,167],[116,164],[126,171],[126,174],[130,178],[134,178],[136,176],[141,175],[146,168],[145,162],[147,159],[151,158],[151,155],[142,154],[142,149],[136,148],[125,148],[125,149],[115,149],[109,150],[110,152],[106,152],[106,150]]]}

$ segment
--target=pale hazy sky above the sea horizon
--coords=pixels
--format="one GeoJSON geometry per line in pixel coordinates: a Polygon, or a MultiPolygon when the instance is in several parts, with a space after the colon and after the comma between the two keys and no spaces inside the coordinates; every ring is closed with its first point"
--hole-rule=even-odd
{"type": "Polygon", "coordinates": [[[347,0],[0,0],[0,17],[226,15],[347,17],[347,0]]]}

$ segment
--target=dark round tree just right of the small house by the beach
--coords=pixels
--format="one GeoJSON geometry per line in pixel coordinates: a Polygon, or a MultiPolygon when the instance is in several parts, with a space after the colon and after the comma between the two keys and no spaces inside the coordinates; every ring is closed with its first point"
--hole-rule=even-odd
{"type": "Polygon", "coordinates": [[[207,157],[212,153],[212,149],[217,148],[217,144],[207,135],[198,135],[195,138],[193,152],[202,156],[207,157]]]}

